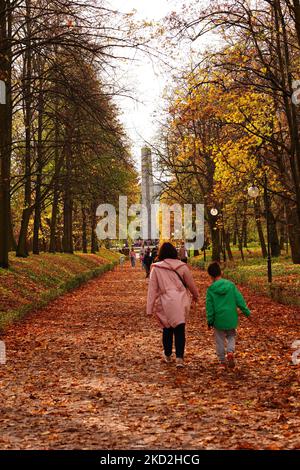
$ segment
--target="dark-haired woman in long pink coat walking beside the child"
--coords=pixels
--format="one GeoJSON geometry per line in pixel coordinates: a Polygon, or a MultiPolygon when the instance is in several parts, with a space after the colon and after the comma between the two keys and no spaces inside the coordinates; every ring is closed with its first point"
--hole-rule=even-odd
{"type": "Polygon", "coordinates": [[[164,359],[171,362],[175,336],[176,366],[183,367],[185,322],[191,306],[191,295],[197,301],[199,292],[188,266],[178,260],[177,250],[164,243],[152,265],[147,300],[147,313],[155,313],[163,329],[164,359]]]}

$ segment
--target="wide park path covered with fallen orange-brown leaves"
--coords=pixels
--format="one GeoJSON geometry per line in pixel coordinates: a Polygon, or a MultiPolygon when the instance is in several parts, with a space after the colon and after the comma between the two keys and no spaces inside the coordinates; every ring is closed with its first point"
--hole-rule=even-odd
{"type": "Polygon", "coordinates": [[[237,367],[220,371],[202,293],[185,369],[161,361],[140,267],[117,268],[10,327],[1,339],[1,449],[300,449],[300,310],[243,293],[237,367]]]}

